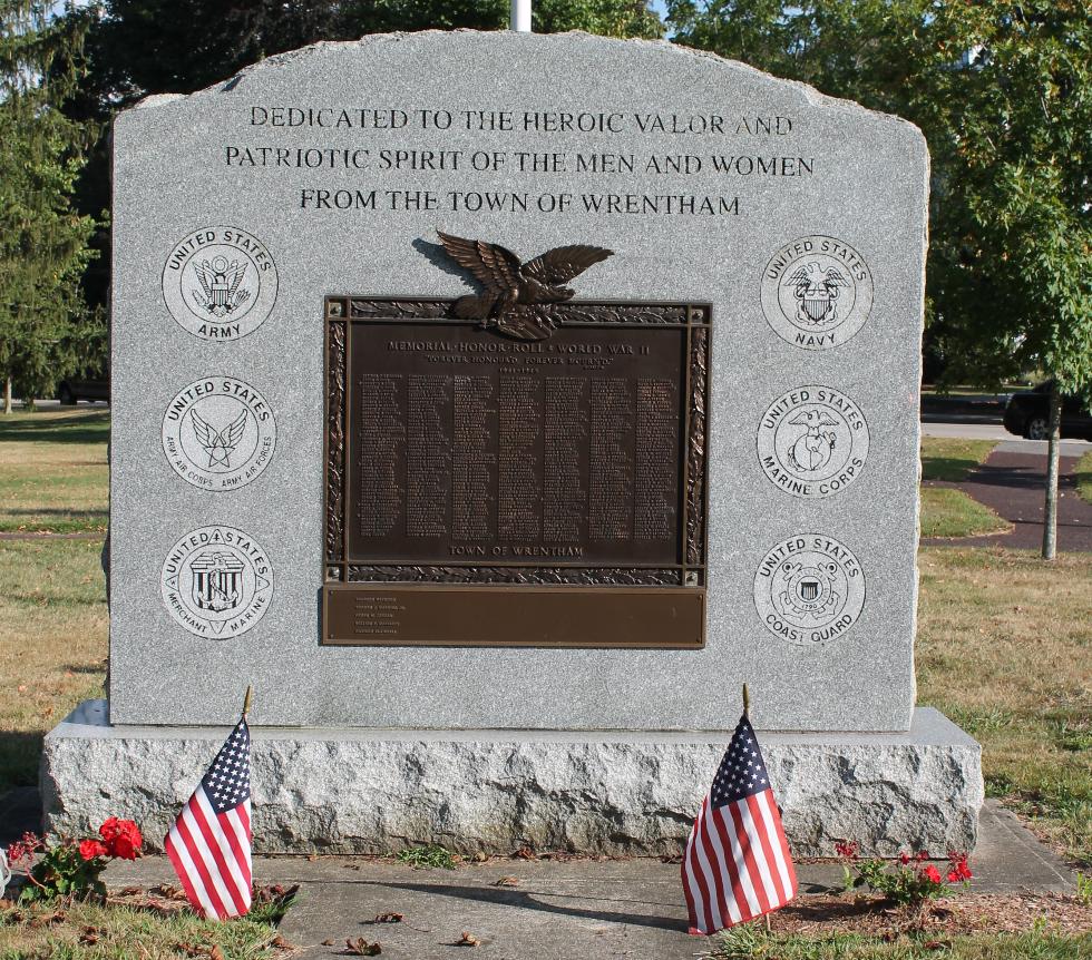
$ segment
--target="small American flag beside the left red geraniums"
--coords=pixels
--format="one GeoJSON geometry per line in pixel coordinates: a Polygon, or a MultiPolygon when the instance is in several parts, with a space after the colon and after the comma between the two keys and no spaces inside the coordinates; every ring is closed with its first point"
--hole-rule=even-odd
{"type": "Polygon", "coordinates": [[[165,845],[194,910],[224,920],[251,909],[251,732],[245,714],[182,809],[165,845]]]}

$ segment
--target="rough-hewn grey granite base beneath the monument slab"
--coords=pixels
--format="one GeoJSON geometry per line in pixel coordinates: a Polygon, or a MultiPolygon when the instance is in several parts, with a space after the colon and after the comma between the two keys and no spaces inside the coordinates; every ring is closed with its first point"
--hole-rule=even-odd
{"type": "MultiPolygon", "coordinates": [[[[105,701],[46,737],[46,825],[136,820],[153,848],[227,734],[111,726],[105,701]]],[[[676,854],[730,734],[565,731],[253,731],[254,849],[387,853],[435,842],[461,853],[521,846],[676,854]]],[[[906,733],[761,733],[793,852],[838,839],[891,856],[972,850],[981,748],[932,707],[906,733]]]]}

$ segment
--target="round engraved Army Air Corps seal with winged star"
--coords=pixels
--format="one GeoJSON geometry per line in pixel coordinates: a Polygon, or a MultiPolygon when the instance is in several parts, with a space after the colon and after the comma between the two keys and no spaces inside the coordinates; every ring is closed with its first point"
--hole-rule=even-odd
{"type": "Polygon", "coordinates": [[[269,467],[276,421],[265,398],[234,376],[206,376],[179,390],[163,415],[163,452],[175,473],[202,490],[237,490],[269,467]]]}

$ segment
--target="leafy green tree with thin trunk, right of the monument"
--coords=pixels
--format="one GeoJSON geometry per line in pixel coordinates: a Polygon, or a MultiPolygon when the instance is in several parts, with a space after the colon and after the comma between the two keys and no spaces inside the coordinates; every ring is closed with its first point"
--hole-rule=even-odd
{"type": "Polygon", "coordinates": [[[1035,368],[1092,400],[1092,20],[1085,0],[669,0],[676,40],[922,127],[933,155],[926,339],[948,383],[1035,368]]]}

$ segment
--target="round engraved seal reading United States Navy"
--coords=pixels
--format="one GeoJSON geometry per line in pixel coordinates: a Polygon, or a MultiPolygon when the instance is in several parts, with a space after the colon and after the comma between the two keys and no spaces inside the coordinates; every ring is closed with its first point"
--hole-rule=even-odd
{"type": "Polygon", "coordinates": [[[784,244],[762,274],[762,312],[782,340],[830,350],[865,325],[872,275],[849,244],[827,236],[784,244]]]}

